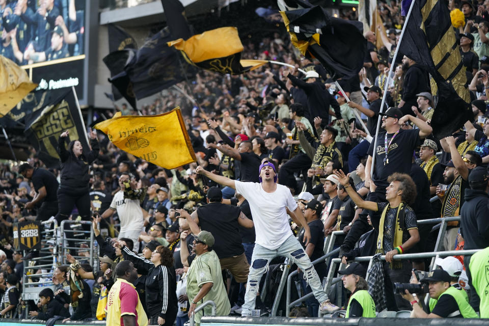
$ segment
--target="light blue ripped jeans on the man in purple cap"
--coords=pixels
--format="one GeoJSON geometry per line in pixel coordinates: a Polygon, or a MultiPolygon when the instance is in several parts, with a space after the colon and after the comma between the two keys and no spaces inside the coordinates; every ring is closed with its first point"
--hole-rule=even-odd
{"type": "Polygon", "coordinates": [[[304,278],[311,286],[312,292],[319,303],[328,300],[328,295],[322,288],[321,281],[311,260],[302,248],[301,243],[291,235],[276,250],[269,250],[260,246],[258,243],[255,244],[253,257],[251,258],[250,274],[248,274],[248,284],[246,293],[244,294],[242,316],[251,316],[251,310],[255,309],[255,300],[261,277],[268,270],[268,263],[278,256],[291,259],[293,263],[297,264],[304,271],[304,278]]]}

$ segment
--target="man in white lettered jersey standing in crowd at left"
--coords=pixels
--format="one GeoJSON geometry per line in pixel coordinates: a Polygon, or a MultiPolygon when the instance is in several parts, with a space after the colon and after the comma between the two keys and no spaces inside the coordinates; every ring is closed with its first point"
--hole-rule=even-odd
{"type": "Polygon", "coordinates": [[[120,238],[129,238],[134,242],[133,251],[139,251],[138,237],[143,231],[143,211],[138,199],[124,198],[125,182],[135,183],[130,180],[128,173],[123,172],[119,177],[119,186],[121,189],[114,195],[111,206],[101,215],[102,219],[109,218],[117,210],[119,220],[121,221],[120,238]]]}

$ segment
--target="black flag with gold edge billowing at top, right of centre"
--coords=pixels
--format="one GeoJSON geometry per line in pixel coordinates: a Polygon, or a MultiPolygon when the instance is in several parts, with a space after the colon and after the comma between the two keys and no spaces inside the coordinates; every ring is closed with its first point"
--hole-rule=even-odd
{"type": "Polygon", "coordinates": [[[358,75],[367,53],[362,23],[330,17],[303,0],[278,0],[278,5],[292,44],[304,56],[319,60],[334,78],[358,75]]]}

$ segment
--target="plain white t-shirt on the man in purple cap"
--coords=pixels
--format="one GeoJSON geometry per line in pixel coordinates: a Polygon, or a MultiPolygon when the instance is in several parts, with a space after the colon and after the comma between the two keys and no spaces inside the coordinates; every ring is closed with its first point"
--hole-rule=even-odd
{"type": "Polygon", "coordinates": [[[289,188],[277,184],[273,193],[267,193],[261,183],[234,181],[236,190],[250,203],[250,210],[255,223],[256,241],[269,250],[279,248],[292,235],[289,226],[290,211],[297,208],[289,188]]]}

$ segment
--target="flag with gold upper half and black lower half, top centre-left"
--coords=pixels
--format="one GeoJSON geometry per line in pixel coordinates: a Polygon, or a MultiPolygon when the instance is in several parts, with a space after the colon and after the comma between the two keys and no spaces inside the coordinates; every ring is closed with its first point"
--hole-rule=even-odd
{"type": "Polygon", "coordinates": [[[194,66],[223,74],[240,74],[256,69],[268,61],[240,62],[243,45],[235,27],[223,27],[192,36],[187,40],[168,42],[180,50],[183,58],[194,66]]]}

